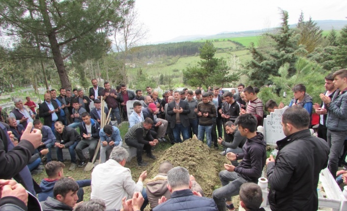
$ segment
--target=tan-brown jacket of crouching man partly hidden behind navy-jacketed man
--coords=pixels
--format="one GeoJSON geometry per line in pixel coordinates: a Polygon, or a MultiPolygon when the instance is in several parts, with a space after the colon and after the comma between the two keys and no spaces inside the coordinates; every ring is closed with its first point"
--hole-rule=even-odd
{"type": "MultiPolygon", "coordinates": [[[[201,186],[192,180],[192,191],[197,191],[203,196],[203,191],[201,186]]],[[[150,204],[150,208],[153,209],[158,206],[158,199],[165,196],[167,199],[171,198],[171,193],[167,187],[168,184],[168,174],[159,173],[153,179],[147,182],[147,198],[150,204]]]]}

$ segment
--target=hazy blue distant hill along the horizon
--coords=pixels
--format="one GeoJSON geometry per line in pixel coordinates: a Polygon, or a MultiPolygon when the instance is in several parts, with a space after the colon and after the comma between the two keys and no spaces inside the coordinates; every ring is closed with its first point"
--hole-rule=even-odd
{"type": "MultiPolygon", "coordinates": [[[[345,25],[347,25],[347,21],[341,21],[341,20],[322,20],[322,21],[315,21],[317,25],[322,30],[331,30],[332,28],[336,30],[341,30],[345,25]]],[[[291,24],[290,27],[295,27],[296,24],[291,24]]],[[[266,29],[268,30],[268,29],[266,29]]],[[[188,35],[188,36],[179,36],[171,40],[163,41],[163,42],[156,42],[155,44],[160,43],[177,43],[177,42],[183,42],[183,41],[195,41],[195,40],[208,40],[208,39],[220,39],[220,38],[231,38],[231,37],[249,37],[249,36],[258,36],[264,31],[265,29],[260,30],[250,30],[250,31],[240,31],[240,32],[221,32],[215,35],[188,35]]]]}

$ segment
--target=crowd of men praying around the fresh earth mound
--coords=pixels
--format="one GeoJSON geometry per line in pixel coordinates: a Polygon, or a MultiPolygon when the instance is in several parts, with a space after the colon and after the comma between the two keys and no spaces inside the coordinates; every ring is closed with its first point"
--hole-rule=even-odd
{"type": "Polygon", "coordinates": [[[337,171],[339,161],[346,157],[345,69],[325,77],[326,91],[319,95],[321,104],[312,101],[303,84],[292,88],[294,97],[282,115],[286,138],[277,141],[275,159],[272,155],[266,157],[266,140],[257,127],[262,125],[264,108],[273,112],[285,105],[269,100],[263,106],[256,87],[239,84],[237,91],[225,93],[219,87],[209,87],[206,92],[201,88],[194,92],[187,88],[168,90],[160,99],[150,87],[142,96],[142,90],[132,92],[124,84],[112,89],[109,82],[104,88],[96,79],[91,82],[89,96],[81,89],[71,92],[61,88],[58,96],[56,90],[50,90],[38,110],[30,97],[26,103],[14,100],[7,124],[0,123],[0,211],[36,211],[41,207],[43,211],[127,211],[144,210],[148,203],[153,211],[232,211],[231,197],[236,195],[240,195],[240,205],[246,211],[262,211],[262,192],[256,183],[265,165],[271,210],[317,210],[321,169],[328,167],[338,183],[347,182],[347,171],[337,171]],[[107,108],[101,108],[101,98],[107,108]],[[128,119],[129,100],[137,101],[128,119]],[[91,101],[95,108],[89,109],[91,101]],[[125,143],[116,126],[106,124],[101,128],[102,111],[111,111],[111,120],[118,124],[129,121],[125,143]],[[316,125],[314,112],[319,115],[316,125]],[[312,136],[309,128],[317,125],[318,137],[312,136]],[[202,188],[184,167],[160,164],[158,174],[148,180],[146,188],[146,171],[135,182],[130,169],[124,167],[129,153],[123,144],[136,148],[138,166],[146,166],[143,152],[155,160],[157,144],[179,144],[193,135],[206,140],[210,148],[212,143],[215,149],[222,145],[220,154],[231,162],[224,164],[225,170],[219,173],[221,187],[213,191],[212,198],[203,197],[202,188]],[[93,169],[91,180],[75,181],[63,176],[63,148],[70,153],[72,171],[92,161],[98,144],[101,164],[93,169]],[[87,147],[89,158],[82,152],[87,147]],[[54,148],[58,161],[52,160],[54,148]],[[37,185],[31,174],[43,170],[48,178],[37,185]],[[86,186],[91,186],[91,199],[83,202],[86,186]]]}

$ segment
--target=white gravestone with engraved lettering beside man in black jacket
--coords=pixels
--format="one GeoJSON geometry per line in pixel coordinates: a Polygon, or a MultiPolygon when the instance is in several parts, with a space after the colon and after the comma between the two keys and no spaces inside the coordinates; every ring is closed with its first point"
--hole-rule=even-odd
{"type": "Polygon", "coordinates": [[[283,109],[275,109],[270,115],[264,118],[263,134],[266,144],[277,146],[276,141],[286,138],[282,128],[282,114],[289,107],[286,106],[283,109]]]}

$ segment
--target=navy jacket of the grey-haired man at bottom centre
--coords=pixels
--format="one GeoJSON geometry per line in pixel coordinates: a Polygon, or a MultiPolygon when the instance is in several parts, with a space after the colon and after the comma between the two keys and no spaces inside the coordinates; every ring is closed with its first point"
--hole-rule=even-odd
{"type": "Polygon", "coordinates": [[[171,199],[158,205],[153,211],[218,211],[213,199],[193,195],[192,190],[177,190],[171,199]]]}

